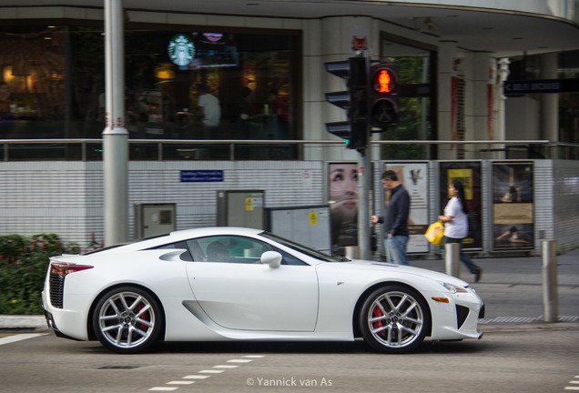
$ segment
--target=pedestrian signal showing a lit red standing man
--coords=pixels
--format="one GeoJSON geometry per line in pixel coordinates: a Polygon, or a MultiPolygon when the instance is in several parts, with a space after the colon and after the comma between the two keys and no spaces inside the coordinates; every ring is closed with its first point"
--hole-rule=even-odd
{"type": "Polygon", "coordinates": [[[378,63],[370,72],[370,126],[375,132],[398,123],[400,77],[398,65],[378,63]]]}

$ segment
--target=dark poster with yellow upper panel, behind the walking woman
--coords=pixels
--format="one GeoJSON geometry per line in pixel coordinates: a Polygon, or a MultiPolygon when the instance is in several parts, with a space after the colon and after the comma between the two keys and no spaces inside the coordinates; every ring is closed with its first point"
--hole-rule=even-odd
{"type": "Polygon", "coordinates": [[[465,249],[483,248],[483,197],[481,188],[480,162],[440,163],[440,207],[437,216],[442,215],[449,195],[452,180],[459,180],[464,187],[464,196],[469,210],[469,233],[462,241],[465,249]]]}

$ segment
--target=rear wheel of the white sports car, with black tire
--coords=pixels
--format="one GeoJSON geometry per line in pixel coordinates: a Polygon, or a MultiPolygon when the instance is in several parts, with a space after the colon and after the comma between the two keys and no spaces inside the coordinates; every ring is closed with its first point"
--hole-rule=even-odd
{"type": "Polygon", "coordinates": [[[98,299],[92,318],[98,341],[121,354],[150,348],[164,323],[157,299],[137,287],[108,291],[98,299]]]}

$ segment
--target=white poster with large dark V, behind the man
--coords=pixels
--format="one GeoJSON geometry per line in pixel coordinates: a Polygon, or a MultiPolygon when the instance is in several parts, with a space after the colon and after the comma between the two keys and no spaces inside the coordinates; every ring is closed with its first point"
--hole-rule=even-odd
{"type": "MultiPolygon", "coordinates": [[[[428,222],[428,164],[427,163],[385,163],[384,170],[393,170],[398,175],[402,186],[411,197],[411,209],[408,217],[407,252],[428,252],[428,241],[424,237],[428,222]]],[[[388,206],[388,193],[384,196],[384,208],[388,206]]],[[[380,212],[382,214],[382,212],[380,212]]]]}

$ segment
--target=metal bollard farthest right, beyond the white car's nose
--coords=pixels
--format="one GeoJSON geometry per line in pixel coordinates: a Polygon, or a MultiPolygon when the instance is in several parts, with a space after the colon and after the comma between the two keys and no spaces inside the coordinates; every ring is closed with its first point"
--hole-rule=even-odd
{"type": "Polygon", "coordinates": [[[557,322],[557,242],[543,240],[543,316],[545,322],[557,322]]]}

